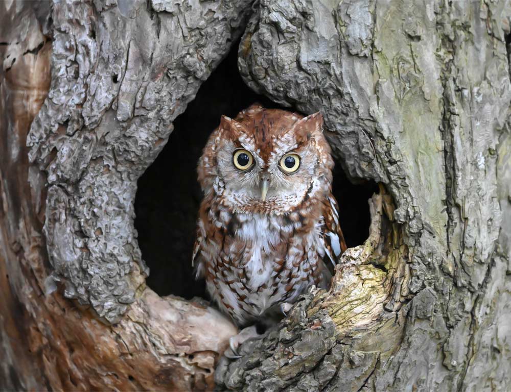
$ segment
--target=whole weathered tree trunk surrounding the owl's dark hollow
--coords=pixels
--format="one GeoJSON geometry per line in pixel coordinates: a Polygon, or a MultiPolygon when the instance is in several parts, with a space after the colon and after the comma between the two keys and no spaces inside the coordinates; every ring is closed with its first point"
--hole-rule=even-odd
{"type": "Polygon", "coordinates": [[[511,388],[509,2],[0,7],[0,389],[511,388]],[[247,85],[380,192],[331,289],[233,361],[225,317],[145,286],[133,200],[243,31],[247,85]]]}

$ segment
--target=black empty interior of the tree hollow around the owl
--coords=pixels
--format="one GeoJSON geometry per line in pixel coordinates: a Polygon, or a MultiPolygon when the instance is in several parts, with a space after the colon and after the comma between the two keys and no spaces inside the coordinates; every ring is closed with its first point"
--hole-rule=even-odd
{"type": "MultiPolygon", "coordinates": [[[[237,66],[237,45],[200,87],[195,100],[174,121],[174,131],[154,163],[138,180],[135,228],[142,257],[150,268],[147,285],[158,295],[206,298],[204,282],[196,282],[191,264],[195,222],[202,198],[197,183],[197,161],[220,116],[235,117],[259,102],[278,108],[254,93],[242,81],[237,66]]],[[[340,224],[348,247],[368,235],[367,200],[374,182],[358,185],[347,180],[340,164],[334,169],[334,195],[340,206],[340,224]]]]}

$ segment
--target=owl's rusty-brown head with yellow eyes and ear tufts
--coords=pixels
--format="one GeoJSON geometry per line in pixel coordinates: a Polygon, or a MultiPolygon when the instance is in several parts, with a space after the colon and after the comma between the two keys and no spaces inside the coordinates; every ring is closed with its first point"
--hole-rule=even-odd
{"type": "Polygon", "coordinates": [[[207,195],[238,212],[284,213],[330,191],[333,160],[320,113],[253,105],[222,116],[199,160],[207,195]]]}

